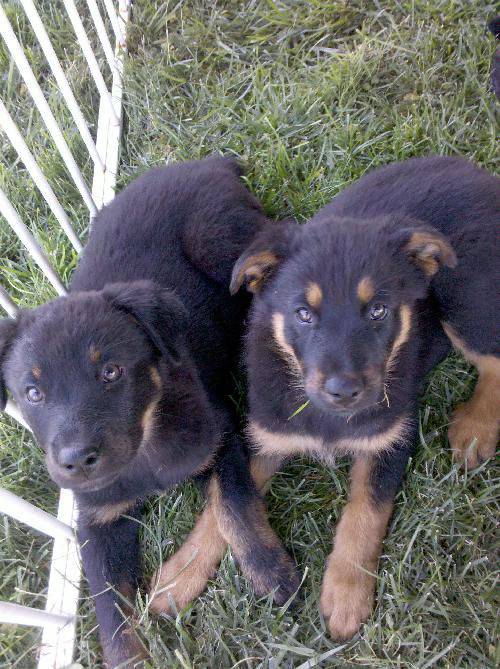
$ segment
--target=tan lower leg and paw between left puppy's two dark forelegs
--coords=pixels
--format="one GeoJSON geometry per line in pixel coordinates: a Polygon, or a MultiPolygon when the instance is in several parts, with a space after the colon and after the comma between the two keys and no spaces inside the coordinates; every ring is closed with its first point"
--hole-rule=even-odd
{"type": "MultiPolygon", "coordinates": [[[[209,495],[213,496],[213,479],[209,495]]],[[[200,595],[224,557],[227,542],[222,537],[214,513],[212,497],[198,517],[186,541],[154,574],[150,590],[153,611],[174,613],[200,595]]]]}

